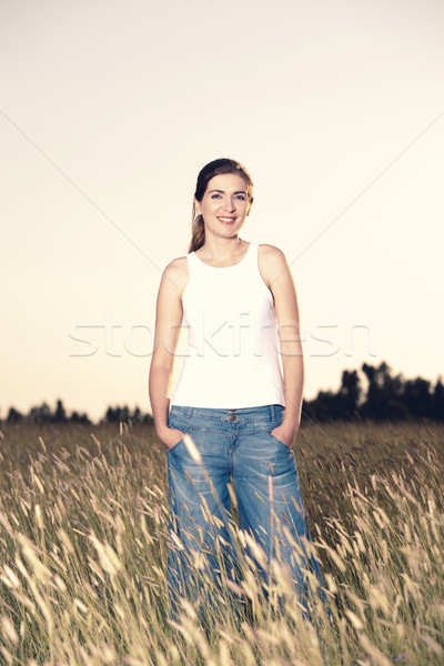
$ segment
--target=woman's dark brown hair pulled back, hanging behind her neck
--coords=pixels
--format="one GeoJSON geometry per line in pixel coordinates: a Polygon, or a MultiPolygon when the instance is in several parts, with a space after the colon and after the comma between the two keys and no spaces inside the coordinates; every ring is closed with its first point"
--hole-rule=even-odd
{"type": "MultiPolygon", "coordinates": [[[[236,173],[241,175],[246,183],[246,195],[249,198],[250,206],[253,203],[253,181],[251,180],[250,173],[246,171],[245,167],[242,167],[240,162],[235,160],[229,160],[228,158],[221,158],[220,160],[213,160],[205,164],[203,169],[199,172],[198,183],[195,185],[194,196],[201,202],[204,193],[206,192],[206,185],[215,175],[221,175],[222,173],[236,173]]],[[[195,214],[195,206],[193,203],[193,219],[192,219],[192,230],[191,230],[191,243],[189,248],[189,252],[195,252],[205,242],[205,228],[203,224],[202,215],[195,214]]]]}

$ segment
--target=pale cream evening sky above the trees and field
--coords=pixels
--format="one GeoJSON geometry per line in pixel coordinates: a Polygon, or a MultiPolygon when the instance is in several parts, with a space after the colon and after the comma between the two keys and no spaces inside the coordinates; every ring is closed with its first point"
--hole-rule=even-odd
{"type": "Polygon", "coordinates": [[[442,376],[443,24],[438,0],[1,0],[0,417],[150,410],[161,272],[221,157],[254,182],[241,238],[291,266],[306,400],[364,362],[442,376]]]}

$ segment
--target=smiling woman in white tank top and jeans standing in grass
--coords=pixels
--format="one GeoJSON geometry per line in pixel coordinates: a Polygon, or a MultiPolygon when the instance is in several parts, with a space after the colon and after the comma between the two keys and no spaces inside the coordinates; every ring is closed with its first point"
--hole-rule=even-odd
{"type": "Polygon", "coordinates": [[[159,289],[150,397],[168,452],[173,607],[176,595],[199,596],[202,553],[215,578],[236,579],[231,480],[245,552],[265,581],[279,556],[304,586],[310,534],[292,450],[304,380],[297,302],[281,250],[239,236],[252,186],[234,160],[201,170],[189,254],[167,266],[159,289]],[[189,353],[170,404],[182,321],[189,353]]]}

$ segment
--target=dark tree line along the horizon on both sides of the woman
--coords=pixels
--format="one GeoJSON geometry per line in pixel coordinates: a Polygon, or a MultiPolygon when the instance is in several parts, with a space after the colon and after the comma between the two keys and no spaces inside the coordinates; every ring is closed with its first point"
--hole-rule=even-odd
{"type": "MultiPolygon", "coordinates": [[[[363,363],[360,370],[342,372],[341,386],[336,392],[320,391],[315,398],[304,400],[302,411],[303,418],[313,421],[444,421],[444,385],[441,377],[433,385],[422,377],[406,380],[402,374],[393,375],[385,361],[379,366],[363,363]]],[[[151,414],[142,413],[139,407],[130,410],[128,406],[109,406],[98,424],[130,421],[153,424],[151,414]]],[[[93,423],[87,413],[68,414],[61,400],[57,401],[54,411],[46,402],[31,407],[28,414],[10,407],[4,422],[93,423]]]]}

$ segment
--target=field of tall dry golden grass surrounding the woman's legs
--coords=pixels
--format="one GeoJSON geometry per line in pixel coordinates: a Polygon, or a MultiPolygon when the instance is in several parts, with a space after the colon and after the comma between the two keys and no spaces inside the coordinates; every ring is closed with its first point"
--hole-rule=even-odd
{"type": "Polygon", "coordinates": [[[266,598],[245,573],[244,617],[202,574],[205,626],[186,603],[167,620],[167,462],[148,426],[0,431],[0,663],[444,664],[443,424],[304,424],[332,622],[314,596],[304,618],[276,563],[266,598]]]}

